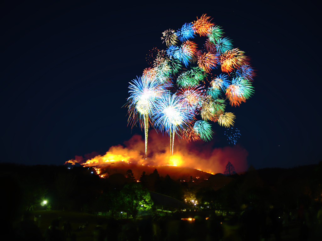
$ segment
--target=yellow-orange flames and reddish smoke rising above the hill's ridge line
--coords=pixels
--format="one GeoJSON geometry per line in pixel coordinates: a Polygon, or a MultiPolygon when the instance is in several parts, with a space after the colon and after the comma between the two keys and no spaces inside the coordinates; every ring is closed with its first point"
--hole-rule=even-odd
{"type": "Polygon", "coordinates": [[[169,138],[150,131],[148,139],[148,158],[145,159],[145,142],[141,135],[134,135],[123,145],[112,146],[105,155],[95,155],[84,159],[76,156],[66,163],[80,163],[84,167],[100,168],[116,162],[133,163],[145,166],[179,166],[202,170],[208,173],[223,173],[230,161],[236,172],[247,169],[248,152],[242,147],[227,146],[213,148],[210,143],[187,143],[175,141],[174,154],[170,155],[169,138]]]}

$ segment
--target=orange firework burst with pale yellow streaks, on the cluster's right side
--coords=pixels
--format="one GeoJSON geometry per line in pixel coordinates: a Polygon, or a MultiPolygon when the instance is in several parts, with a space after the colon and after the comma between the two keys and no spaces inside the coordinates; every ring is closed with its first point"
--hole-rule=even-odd
{"type": "Polygon", "coordinates": [[[245,52],[239,49],[227,50],[220,56],[221,69],[223,72],[232,72],[246,60],[245,52]]]}

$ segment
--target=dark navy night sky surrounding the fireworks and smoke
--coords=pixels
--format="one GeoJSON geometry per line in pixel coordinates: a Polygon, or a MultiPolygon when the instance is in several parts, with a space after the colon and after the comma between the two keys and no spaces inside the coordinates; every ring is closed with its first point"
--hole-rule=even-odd
{"type": "MultiPolygon", "coordinates": [[[[317,1],[13,2],[0,5],[1,162],[61,165],[135,133],[144,138],[127,126],[128,82],[149,67],[150,49],[166,49],[163,31],[202,14],[256,69],[255,94],[234,108],[248,164],[322,160],[317,1]]],[[[211,145],[229,146],[224,129],[213,128],[211,145]]]]}

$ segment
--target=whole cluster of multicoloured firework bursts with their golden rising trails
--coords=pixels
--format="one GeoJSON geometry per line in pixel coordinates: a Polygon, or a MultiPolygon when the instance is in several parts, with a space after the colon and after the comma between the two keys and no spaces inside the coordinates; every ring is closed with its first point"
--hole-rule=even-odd
{"type": "Polygon", "coordinates": [[[245,52],[233,48],[222,27],[206,14],[181,29],[164,31],[166,50],[153,48],[147,55],[149,68],[130,82],[128,123],[145,130],[145,154],[149,127],[187,141],[212,139],[211,122],[227,128],[225,135],[236,144],[240,137],[235,115],[226,106],[240,106],[254,90],[254,70],[245,52]],[[199,35],[205,43],[198,49],[192,39],[199,35]]]}

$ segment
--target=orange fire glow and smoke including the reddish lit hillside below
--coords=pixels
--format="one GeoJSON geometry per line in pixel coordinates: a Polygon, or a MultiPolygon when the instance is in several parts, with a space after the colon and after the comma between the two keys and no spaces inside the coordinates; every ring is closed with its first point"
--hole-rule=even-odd
{"type": "MultiPolygon", "coordinates": [[[[162,174],[164,176],[169,174],[172,178],[175,177],[182,180],[185,180],[185,178],[180,176],[181,171],[190,172],[184,168],[196,169],[211,174],[223,173],[228,161],[234,165],[236,172],[245,171],[247,168],[248,153],[238,145],[212,148],[204,144],[204,146],[196,149],[195,143],[181,140],[180,144],[175,145],[173,156],[171,156],[168,150],[168,136],[158,135],[155,130],[151,130],[149,131],[149,137],[151,153],[147,159],[145,158],[145,140],[141,135],[136,134],[130,140],[125,141],[124,146],[112,146],[104,155],[91,155],[93,158],[90,159],[76,156],[75,160],[68,160],[66,164],[79,163],[84,167],[93,167],[97,175],[101,177],[120,173],[116,171],[121,171],[122,168],[126,169],[127,167],[124,165],[127,165],[128,169],[132,169],[137,180],[141,176],[142,171],[146,171],[149,174],[155,168],[160,171],[165,170],[166,173],[162,174]],[[175,166],[174,169],[167,169],[166,166],[169,165],[175,166]],[[106,169],[110,171],[108,172],[106,169]]],[[[208,178],[201,178],[200,174],[194,175],[194,177],[200,177],[199,180],[208,178]]]]}

